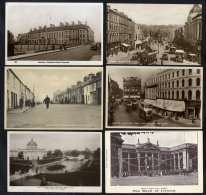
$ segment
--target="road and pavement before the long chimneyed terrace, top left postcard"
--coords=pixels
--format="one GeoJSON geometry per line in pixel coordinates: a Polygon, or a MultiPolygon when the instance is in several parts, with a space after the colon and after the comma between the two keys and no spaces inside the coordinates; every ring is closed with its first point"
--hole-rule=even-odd
{"type": "Polygon", "coordinates": [[[8,57],[8,60],[30,60],[30,61],[89,61],[93,56],[95,59],[101,57],[101,51],[91,50],[90,45],[80,45],[76,47],[67,48],[67,50],[50,50],[37,53],[28,53],[17,56],[8,57]]]}

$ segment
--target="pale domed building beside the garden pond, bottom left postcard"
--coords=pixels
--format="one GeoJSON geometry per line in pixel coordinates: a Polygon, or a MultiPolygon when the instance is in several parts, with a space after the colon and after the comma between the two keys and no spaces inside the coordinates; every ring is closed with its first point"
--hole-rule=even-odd
{"type": "Polygon", "coordinates": [[[10,158],[18,158],[19,152],[23,152],[24,160],[41,160],[46,157],[47,150],[38,148],[33,139],[29,141],[24,149],[10,150],[10,158]]]}

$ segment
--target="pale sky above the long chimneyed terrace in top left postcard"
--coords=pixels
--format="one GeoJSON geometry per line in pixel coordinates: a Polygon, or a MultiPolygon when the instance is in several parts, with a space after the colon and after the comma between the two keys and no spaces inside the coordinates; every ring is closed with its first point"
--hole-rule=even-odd
{"type": "Polygon", "coordinates": [[[39,26],[87,21],[94,31],[95,41],[101,41],[101,10],[101,4],[91,3],[10,3],[7,4],[7,29],[16,38],[19,33],[27,33],[31,28],[38,29],[39,26]]]}

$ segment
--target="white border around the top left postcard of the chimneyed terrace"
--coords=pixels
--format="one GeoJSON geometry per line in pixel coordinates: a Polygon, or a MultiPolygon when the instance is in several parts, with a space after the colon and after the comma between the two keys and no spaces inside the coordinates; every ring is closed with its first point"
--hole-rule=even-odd
{"type": "Polygon", "coordinates": [[[5,3],[5,12],[6,12],[6,17],[5,17],[5,64],[6,65],[36,65],[36,66],[41,66],[41,65],[60,65],[60,66],[65,66],[65,65],[97,65],[97,66],[103,66],[103,3],[45,3],[45,2],[36,2],[36,3],[22,3],[22,2],[6,2],[5,3]],[[101,7],[101,60],[100,61],[58,61],[58,60],[39,60],[39,61],[28,61],[28,60],[8,60],[7,56],[7,18],[8,18],[8,6],[9,5],[41,5],[41,4],[47,4],[47,5],[69,5],[69,6],[85,6],[85,5],[90,5],[92,6],[100,6],[101,7]]]}

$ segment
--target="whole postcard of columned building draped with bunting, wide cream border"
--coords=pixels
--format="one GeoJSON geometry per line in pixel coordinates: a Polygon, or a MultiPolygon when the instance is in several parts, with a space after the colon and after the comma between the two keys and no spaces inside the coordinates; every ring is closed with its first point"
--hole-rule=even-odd
{"type": "Polygon", "coordinates": [[[200,131],[106,132],[106,151],[107,192],[203,190],[200,131]]]}

